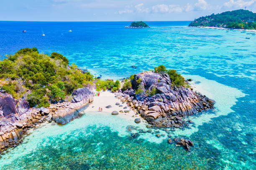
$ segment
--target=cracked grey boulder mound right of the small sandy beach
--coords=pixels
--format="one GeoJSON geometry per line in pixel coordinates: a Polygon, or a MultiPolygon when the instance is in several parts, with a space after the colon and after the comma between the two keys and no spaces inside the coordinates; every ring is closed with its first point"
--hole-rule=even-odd
{"type": "Polygon", "coordinates": [[[159,127],[176,127],[187,125],[183,117],[203,110],[214,108],[214,101],[192,88],[176,87],[168,74],[145,71],[134,75],[132,89],[119,92],[121,101],[137,110],[149,124],[159,127]],[[141,94],[135,94],[138,87],[143,87],[141,94]],[[156,89],[153,96],[147,91],[156,89]]]}

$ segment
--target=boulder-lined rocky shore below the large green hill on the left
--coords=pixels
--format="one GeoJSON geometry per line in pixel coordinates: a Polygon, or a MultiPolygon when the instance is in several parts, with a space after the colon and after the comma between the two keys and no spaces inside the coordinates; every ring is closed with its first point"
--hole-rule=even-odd
{"type": "Polygon", "coordinates": [[[94,92],[87,87],[74,90],[72,101],[45,107],[29,107],[24,99],[15,100],[10,94],[0,93],[0,153],[22,143],[22,137],[41,123],[55,121],[60,125],[79,117],[79,112],[93,102],[94,92]]]}

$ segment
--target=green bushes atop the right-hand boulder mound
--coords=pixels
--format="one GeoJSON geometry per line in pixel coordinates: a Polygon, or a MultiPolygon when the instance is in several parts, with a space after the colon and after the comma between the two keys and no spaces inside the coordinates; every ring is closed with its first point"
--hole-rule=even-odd
{"type": "Polygon", "coordinates": [[[159,65],[158,67],[155,67],[155,72],[159,72],[160,74],[167,73],[173,85],[184,86],[185,79],[180,74],[178,74],[176,70],[166,70],[164,65],[159,65]]]}

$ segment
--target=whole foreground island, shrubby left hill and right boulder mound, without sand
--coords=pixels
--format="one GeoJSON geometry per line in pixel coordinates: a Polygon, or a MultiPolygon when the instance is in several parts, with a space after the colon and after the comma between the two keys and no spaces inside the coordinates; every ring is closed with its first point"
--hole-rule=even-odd
{"type": "MultiPolygon", "coordinates": [[[[95,91],[115,92],[115,97],[130,107],[124,107],[124,112],[133,110],[137,116],[134,121],[145,119],[147,128],[185,127],[192,122],[184,117],[212,109],[215,103],[193,91],[176,70],[167,70],[163,65],[121,82],[101,80],[69,65],[59,53],[39,54],[34,47],[8,55],[0,65],[0,153],[22,143],[23,135],[43,122],[63,125],[82,116],[81,111],[94,101],[95,91]]],[[[112,115],[118,115],[118,111],[112,115]]],[[[184,138],[175,138],[174,142],[187,150],[193,146],[184,138]]]]}

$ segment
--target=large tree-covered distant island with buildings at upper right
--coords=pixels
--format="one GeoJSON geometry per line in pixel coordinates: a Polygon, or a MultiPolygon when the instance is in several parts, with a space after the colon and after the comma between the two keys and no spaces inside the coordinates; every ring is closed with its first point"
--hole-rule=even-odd
{"type": "Polygon", "coordinates": [[[256,13],[249,10],[233,10],[200,17],[192,21],[192,27],[219,27],[232,29],[256,29],[256,13]]]}

